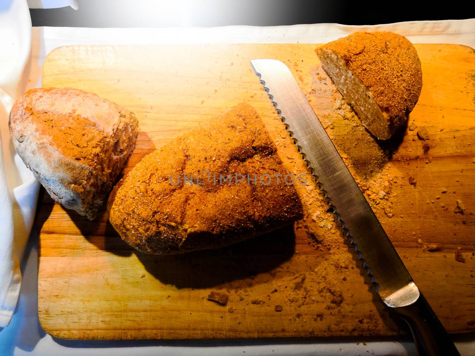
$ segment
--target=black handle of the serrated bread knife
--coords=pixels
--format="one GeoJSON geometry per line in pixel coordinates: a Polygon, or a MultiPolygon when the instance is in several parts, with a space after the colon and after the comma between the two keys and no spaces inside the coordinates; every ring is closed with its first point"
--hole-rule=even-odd
{"type": "Polygon", "coordinates": [[[419,355],[460,356],[447,331],[422,294],[415,303],[390,310],[409,324],[419,355]]]}

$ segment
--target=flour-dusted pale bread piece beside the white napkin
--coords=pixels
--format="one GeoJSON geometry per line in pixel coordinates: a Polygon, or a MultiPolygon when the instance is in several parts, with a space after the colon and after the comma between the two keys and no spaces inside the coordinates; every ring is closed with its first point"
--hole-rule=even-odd
{"type": "Polygon", "coordinates": [[[49,195],[94,219],[137,138],[133,112],[70,88],[26,92],[10,112],[15,149],[49,195]]]}

